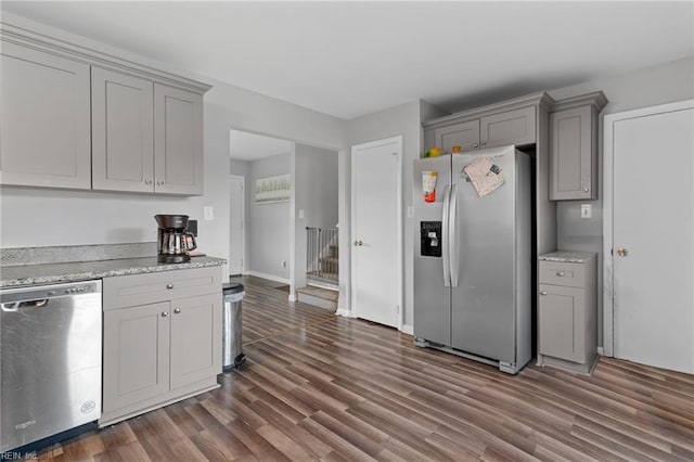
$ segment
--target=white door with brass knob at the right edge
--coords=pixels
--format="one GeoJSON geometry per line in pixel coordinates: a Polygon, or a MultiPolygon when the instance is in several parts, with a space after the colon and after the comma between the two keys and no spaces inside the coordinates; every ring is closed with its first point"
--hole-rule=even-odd
{"type": "Polygon", "coordinates": [[[613,161],[614,356],[689,373],[694,373],[693,127],[692,102],[605,117],[605,153],[613,161]]]}

